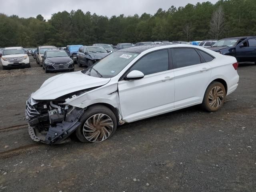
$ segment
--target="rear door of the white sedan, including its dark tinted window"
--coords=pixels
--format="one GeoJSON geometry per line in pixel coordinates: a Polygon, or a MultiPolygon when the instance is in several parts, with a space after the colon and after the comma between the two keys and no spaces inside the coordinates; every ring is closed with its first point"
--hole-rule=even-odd
{"type": "Polygon", "coordinates": [[[172,48],[174,66],[174,108],[181,108],[203,100],[211,76],[211,67],[194,48],[172,48]]]}

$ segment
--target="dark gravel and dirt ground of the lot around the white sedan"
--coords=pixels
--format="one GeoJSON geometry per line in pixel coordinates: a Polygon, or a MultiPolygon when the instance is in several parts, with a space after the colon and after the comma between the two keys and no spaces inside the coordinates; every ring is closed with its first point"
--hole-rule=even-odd
{"type": "Polygon", "coordinates": [[[72,136],[50,146],[30,139],[24,108],[56,73],[35,62],[1,69],[0,191],[254,192],[256,66],[240,64],[238,73],[238,89],[218,112],[194,106],[124,124],[100,144],[72,136]]]}

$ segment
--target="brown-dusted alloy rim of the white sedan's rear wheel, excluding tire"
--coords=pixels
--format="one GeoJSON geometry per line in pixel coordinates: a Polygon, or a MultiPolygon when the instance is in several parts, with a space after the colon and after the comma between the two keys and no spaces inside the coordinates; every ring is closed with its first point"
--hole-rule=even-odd
{"type": "Polygon", "coordinates": [[[209,93],[208,104],[212,108],[219,108],[224,99],[224,91],[220,86],[215,86],[209,93]]]}

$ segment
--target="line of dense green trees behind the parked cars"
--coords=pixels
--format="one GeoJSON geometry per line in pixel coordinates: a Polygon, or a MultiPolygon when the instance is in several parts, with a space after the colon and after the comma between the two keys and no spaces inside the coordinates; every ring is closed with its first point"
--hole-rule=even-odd
{"type": "Polygon", "coordinates": [[[219,0],[159,8],[141,16],[107,16],[72,10],[52,14],[46,21],[0,14],[0,47],[117,44],[156,40],[192,41],[234,36],[256,36],[255,0],[219,0]]]}

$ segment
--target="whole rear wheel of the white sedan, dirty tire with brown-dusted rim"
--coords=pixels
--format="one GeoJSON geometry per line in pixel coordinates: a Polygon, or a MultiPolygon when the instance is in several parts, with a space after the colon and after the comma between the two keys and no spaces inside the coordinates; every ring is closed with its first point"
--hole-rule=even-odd
{"type": "Polygon", "coordinates": [[[208,112],[215,112],[224,104],[225,97],[226,90],[224,85],[214,81],[206,89],[202,107],[208,112]]]}

